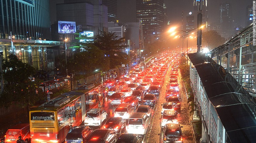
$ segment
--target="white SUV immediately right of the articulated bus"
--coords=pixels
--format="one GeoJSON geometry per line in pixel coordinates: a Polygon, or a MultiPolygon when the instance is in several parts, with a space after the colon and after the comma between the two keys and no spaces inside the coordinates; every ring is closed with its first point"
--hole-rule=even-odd
{"type": "Polygon", "coordinates": [[[93,108],[86,113],[84,125],[101,126],[102,122],[107,119],[108,114],[101,108],[93,108]]]}

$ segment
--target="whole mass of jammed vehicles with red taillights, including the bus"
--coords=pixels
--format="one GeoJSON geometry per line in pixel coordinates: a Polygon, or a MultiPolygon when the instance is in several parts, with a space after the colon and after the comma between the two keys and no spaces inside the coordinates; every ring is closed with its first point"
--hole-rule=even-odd
{"type": "Polygon", "coordinates": [[[78,88],[59,95],[30,111],[30,124],[9,129],[4,142],[183,143],[183,126],[179,124],[180,54],[175,52],[154,56],[142,69],[135,65],[103,85],[83,85],[79,88],[88,90],[78,88]],[[103,102],[97,105],[100,99],[103,102]],[[96,107],[90,108],[90,104],[96,107]],[[160,131],[154,133],[152,127],[160,131]]]}

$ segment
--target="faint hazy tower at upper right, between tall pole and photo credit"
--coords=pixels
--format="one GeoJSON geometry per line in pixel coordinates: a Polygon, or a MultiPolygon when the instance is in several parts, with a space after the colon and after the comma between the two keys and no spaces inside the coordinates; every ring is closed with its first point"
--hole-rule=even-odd
{"type": "Polygon", "coordinates": [[[233,34],[232,9],[230,3],[220,4],[220,35],[224,38],[230,38],[233,34]]]}

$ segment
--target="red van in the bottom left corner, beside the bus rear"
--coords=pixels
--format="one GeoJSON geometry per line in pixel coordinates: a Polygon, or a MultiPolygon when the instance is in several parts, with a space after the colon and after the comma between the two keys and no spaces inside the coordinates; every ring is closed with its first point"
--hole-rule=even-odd
{"type": "Polygon", "coordinates": [[[21,135],[21,139],[23,139],[26,143],[30,142],[31,135],[29,124],[22,123],[11,127],[5,134],[5,142],[16,143],[16,140],[19,139],[19,135],[21,135]]]}

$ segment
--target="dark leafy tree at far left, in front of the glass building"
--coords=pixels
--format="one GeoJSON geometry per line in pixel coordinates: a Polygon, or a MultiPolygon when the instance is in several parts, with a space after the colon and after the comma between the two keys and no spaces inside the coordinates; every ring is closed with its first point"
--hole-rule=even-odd
{"type": "Polygon", "coordinates": [[[31,81],[29,77],[35,74],[36,70],[29,64],[23,63],[15,55],[3,58],[3,80],[4,90],[0,97],[1,105],[10,105],[14,102],[18,107],[29,107],[38,100],[44,98],[41,81],[31,81]]]}

